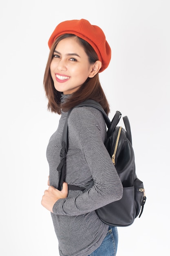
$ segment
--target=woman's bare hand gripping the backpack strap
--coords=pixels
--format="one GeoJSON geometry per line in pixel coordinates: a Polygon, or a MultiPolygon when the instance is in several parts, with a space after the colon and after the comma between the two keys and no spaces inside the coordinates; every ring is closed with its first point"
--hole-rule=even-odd
{"type": "Polygon", "coordinates": [[[63,182],[63,189],[61,191],[58,189],[55,189],[53,186],[49,186],[49,189],[44,191],[41,204],[47,210],[53,213],[53,206],[55,202],[57,202],[57,200],[59,200],[60,198],[66,198],[67,195],[68,195],[68,185],[66,182],[63,182]]]}

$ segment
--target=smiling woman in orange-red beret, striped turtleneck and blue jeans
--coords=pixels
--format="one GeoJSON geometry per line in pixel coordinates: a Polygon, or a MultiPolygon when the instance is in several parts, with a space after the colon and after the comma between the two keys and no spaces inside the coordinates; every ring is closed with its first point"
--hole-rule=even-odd
{"type": "Polygon", "coordinates": [[[99,82],[111,50],[104,32],[87,20],[61,22],[49,39],[50,54],[44,74],[48,109],[61,114],[47,147],[49,188],[42,205],[51,211],[61,256],[112,256],[117,251],[117,228],[108,227],[95,210],[122,197],[122,184],[104,146],[106,125],[93,107],[74,108],[68,118],[68,153],[62,190],[58,171],[62,131],[68,110],[86,99],[109,106],[99,82]],[[69,190],[68,184],[86,188],[69,190]]]}

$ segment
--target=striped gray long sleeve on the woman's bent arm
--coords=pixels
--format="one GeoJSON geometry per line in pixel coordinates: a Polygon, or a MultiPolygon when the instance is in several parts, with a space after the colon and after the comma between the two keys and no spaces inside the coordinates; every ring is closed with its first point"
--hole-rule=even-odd
{"type": "Polygon", "coordinates": [[[82,154],[94,186],[85,193],[58,200],[53,206],[54,214],[78,216],[122,197],[121,181],[104,146],[104,118],[99,110],[91,109],[75,108],[68,119],[68,132],[69,144],[82,154]]]}

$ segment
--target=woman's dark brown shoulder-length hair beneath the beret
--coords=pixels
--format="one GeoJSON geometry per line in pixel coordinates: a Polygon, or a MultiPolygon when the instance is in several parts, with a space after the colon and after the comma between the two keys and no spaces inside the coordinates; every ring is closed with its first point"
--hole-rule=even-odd
{"type": "Polygon", "coordinates": [[[98,73],[92,78],[88,77],[86,81],[82,84],[82,86],[76,92],[71,94],[71,97],[69,97],[69,99],[65,103],[61,104],[61,92],[58,92],[54,87],[53,79],[50,72],[50,65],[53,59],[53,52],[55,50],[55,47],[62,39],[67,37],[77,38],[79,44],[84,48],[84,51],[86,52],[89,62],[91,64],[95,63],[95,61],[98,60],[98,56],[95,53],[93,47],[91,47],[91,45],[82,38],[79,38],[78,36],[75,36],[73,34],[64,34],[62,36],[59,36],[51,47],[44,73],[44,89],[46,92],[46,97],[49,101],[48,110],[58,113],[60,115],[61,109],[62,111],[66,112],[77,104],[82,103],[86,99],[93,99],[99,102],[104,108],[106,114],[108,114],[110,111],[109,105],[102,86],[99,82],[98,73]]]}

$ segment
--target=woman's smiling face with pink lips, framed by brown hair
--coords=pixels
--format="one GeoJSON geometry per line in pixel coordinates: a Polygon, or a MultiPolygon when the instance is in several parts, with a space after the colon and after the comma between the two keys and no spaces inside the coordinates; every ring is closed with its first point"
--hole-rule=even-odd
{"type": "Polygon", "coordinates": [[[64,38],[56,46],[50,65],[54,87],[63,94],[77,91],[91,76],[93,65],[75,37],[64,38]]]}

